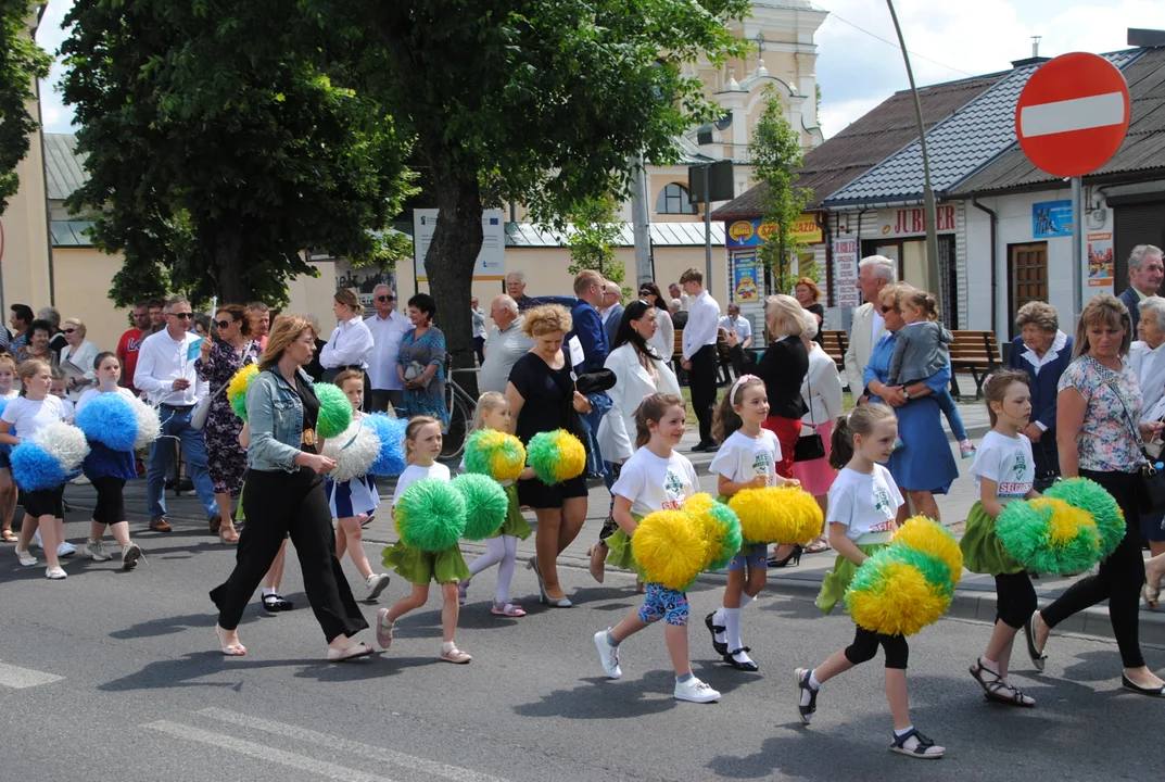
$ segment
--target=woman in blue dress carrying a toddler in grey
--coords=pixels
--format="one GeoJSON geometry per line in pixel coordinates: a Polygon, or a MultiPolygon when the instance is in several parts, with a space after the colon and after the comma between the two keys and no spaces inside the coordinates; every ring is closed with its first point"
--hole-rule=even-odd
{"type": "Polygon", "coordinates": [[[906,284],[887,286],[878,293],[875,304],[885,322],[885,332],[878,337],[870,353],[862,380],[866,383],[864,402],[884,402],[898,416],[898,437],[903,448],[894,452],[887,466],[895,482],[905,493],[909,503],[899,509],[899,521],[909,508],[915,513],[939,520],[935,494],[946,494],[959,477],[951,446],[942,430],[939,403],[931,396],[951,382],[951,365],[926,380],[909,386],[890,386],[890,359],[898,331],[906,325],[899,303],[915,293],[906,284]]]}

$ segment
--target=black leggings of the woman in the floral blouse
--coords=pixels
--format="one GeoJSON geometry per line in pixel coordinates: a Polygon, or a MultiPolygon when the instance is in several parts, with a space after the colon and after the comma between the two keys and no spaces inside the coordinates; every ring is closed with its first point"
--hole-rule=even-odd
{"type": "Polygon", "coordinates": [[[1116,551],[1100,563],[1099,573],[1078,580],[1039,615],[1048,627],[1055,627],[1078,611],[1108,600],[1108,618],[1121,662],[1125,668],[1141,668],[1145,664],[1137,624],[1141,585],[1145,583],[1145,561],[1141,555],[1141,475],[1089,470],[1081,470],[1080,475],[1095,480],[1116,499],[1124,512],[1124,537],[1116,551]]]}

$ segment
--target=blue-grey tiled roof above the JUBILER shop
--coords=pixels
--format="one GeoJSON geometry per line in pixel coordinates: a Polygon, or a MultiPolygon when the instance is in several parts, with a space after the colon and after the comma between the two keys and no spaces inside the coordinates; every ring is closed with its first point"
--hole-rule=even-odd
{"type": "MultiPolygon", "coordinates": [[[[1104,55],[1124,69],[1143,49],[1104,55]]],[[[1039,63],[1019,65],[990,90],[926,134],[931,184],[946,191],[1015,143],[1019,93],[1039,63]]],[[[873,205],[923,197],[923,155],[918,139],[825,199],[826,207],[873,205]]]]}

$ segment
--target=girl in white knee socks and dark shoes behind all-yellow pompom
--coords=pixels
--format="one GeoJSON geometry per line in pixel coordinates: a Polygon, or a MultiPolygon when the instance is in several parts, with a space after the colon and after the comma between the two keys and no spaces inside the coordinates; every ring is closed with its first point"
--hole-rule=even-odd
{"type": "MultiPolygon", "coordinates": [[[[762,427],[768,415],[769,395],[764,381],[756,375],[737,378],[716,408],[712,436],[720,443],[720,450],[709,471],[716,475],[721,502],[728,502],[728,498],[746,488],[799,485],[777,474],[781,443],[762,427]]],[[[723,605],[704,619],[712,633],[712,648],[739,670],[757,670],[748,656],[748,647],[740,640],[740,611],[764,589],[767,568],[767,544],[746,543],[728,563],[723,605]]]]}

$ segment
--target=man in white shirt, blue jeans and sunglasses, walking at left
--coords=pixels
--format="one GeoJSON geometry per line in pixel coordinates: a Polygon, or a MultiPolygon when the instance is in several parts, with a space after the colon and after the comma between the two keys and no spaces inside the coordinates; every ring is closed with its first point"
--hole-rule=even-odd
{"type": "Polygon", "coordinates": [[[134,386],[158,404],[162,437],[149,449],[146,472],[146,498],[150,515],[149,528],[169,533],[165,520],[165,477],[174,453],[174,441],[182,445],[186,470],[195,484],[198,501],[206,510],[211,529],[218,521],[214,485],[206,471],[206,443],[200,429],[190,428],[190,416],[198,400],[206,395],[206,383],[195,372],[199,337],[190,331],[193,311],[185,298],[171,298],[163,309],[165,329],[150,334],[137,352],[134,386]]]}

